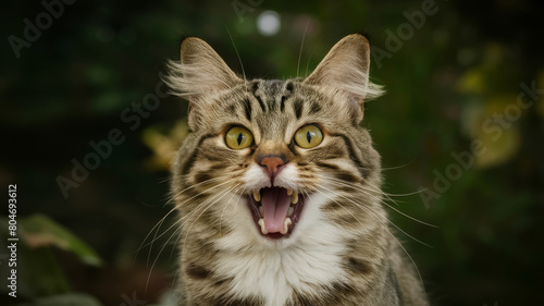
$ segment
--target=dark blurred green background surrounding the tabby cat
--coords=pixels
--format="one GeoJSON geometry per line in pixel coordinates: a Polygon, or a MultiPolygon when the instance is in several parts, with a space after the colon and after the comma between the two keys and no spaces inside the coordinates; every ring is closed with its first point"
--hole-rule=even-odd
{"type": "MultiPolygon", "coordinates": [[[[77,247],[27,237],[17,299],[4,293],[0,257],[1,305],[71,292],[102,305],[134,296],[157,305],[168,295],[175,218],[152,228],[172,208],[168,167],[186,133],[187,106],[160,97],[138,114],[133,102],[161,86],[181,37],[206,39],[242,73],[236,47],[248,77],[283,78],[296,76],[298,63],[307,75],[355,32],[370,36],[371,75],[387,88],[366,105],[363,122],[383,157],[384,191],[396,203],[387,204],[437,227],[390,209],[395,224],[430,245],[399,233],[433,305],[542,303],[544,91],[518,100],[524,86],[544,89],[542,2],[81,0],[63,4],[33,39],[25,39],[24,20],[36,25],[44,4],[4,1],[1,10],[0,185],[17,184],[20,222],[48,216],[102,259],[88,265],[77,247]],[[434,13],[425,15],[426,5],[434,13]],[[257,25],[265,11],[280,19],[274,35],[257,25]],[[13,37],[27,47],[14,49],[13,37]],[[73,160],[83,163],[95,152],[90,142],[107,142],[115,128],[124,142],[76,182],[73,160]],[[66,197],[59,176],[77,184],[66,197]]],[[[1,238],[0,255],[8,253],[1,238]]]]}

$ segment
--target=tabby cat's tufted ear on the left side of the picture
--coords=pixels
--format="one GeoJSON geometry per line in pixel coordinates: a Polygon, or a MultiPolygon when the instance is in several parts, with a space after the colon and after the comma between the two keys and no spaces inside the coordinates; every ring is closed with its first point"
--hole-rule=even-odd
{"type": "Polygon", "coordinates": [[[198,124],[198,114],[210,103],[211,95],[244,83],[210,45],[197,37],[182,40],[181,61],[171,61],[169,68],[168,85],[189,101],[189,125],[198,124]]]}

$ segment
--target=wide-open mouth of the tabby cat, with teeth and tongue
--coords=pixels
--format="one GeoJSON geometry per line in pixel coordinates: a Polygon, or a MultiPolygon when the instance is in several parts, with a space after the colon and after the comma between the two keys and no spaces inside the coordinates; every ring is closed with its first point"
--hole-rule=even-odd
{"type": "Polygon", "coordinates": [[[288,237],[304,208],[305,196],[282,187],[265,187],[247,196],[254,221],[263,236],[288,237]]]}

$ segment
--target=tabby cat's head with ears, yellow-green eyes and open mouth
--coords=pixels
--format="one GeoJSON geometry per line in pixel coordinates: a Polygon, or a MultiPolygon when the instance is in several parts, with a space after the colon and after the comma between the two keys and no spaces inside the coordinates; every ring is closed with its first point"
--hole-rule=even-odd
{"type": "Polygon", "coordinates": [[[368,40],[354,34],[304,79],[249,81],[203,40],[184,39],[168,79],[189,102],[193,131],[173,167],[183,236],[285,246],[382,216],[380,157],[360,127],[363,103],[382,94],[369,63],[368,40]]]}

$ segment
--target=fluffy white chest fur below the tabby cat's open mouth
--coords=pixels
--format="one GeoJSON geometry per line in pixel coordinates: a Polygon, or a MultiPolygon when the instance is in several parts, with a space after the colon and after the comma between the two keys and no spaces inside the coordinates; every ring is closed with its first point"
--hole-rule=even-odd
{"type": "Polygon", "coordinates": [[[259,296],[265,306],[285,305],[294,290],[311,293],[320,285],[345,280],[341,256],[345,244],[339,229],[324,222],[305,223],[298,224],[304,234],[294,233],[295,243],[283,247],[263,247],[263,237],[255,229],[232,232],[221,238],[224,252],[215,272],[233,279],[236,297],[259,296]]]}

